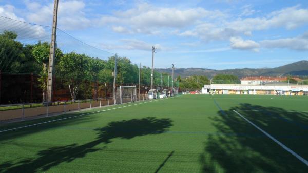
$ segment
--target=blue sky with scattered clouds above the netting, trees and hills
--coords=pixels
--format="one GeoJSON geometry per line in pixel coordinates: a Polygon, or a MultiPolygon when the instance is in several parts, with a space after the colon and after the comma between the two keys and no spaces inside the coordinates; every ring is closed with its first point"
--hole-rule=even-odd
{"type": "MultiPolygon", "coordinates": [[[[0,16],[51,25],[53,1],[0,0],[0,16]]],[[[308,60],[308,1],[60,0],[58,28],[155,67],[277,67],[308,60]]]]}

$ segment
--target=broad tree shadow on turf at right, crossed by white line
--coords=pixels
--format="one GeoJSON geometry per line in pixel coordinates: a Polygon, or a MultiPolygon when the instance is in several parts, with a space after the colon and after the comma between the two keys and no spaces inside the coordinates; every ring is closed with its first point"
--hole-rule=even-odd
{"type": "Polygon", "coordinates": [[[252,121],[278,141],[308,159],[308,114],[278,107],[240,104],[211,117],[217,135],[208,136],[200,155],[203,172],[307,172],[308,167],[238,116],[252,121]],[[254,111],[249,111],[254,110],[254,111]],[[258,110],[258,111],[257,111],[258,110]],[[299,124],[301,126],[299,126],[299,124]]]}

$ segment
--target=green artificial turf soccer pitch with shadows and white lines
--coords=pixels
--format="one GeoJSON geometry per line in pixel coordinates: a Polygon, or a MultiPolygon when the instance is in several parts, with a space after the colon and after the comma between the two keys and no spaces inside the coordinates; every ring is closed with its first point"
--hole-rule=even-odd
{"type": "Polygon", "coordinates": [[[78,116],[0,132],[0,172],[308,172],[233,110],[308,160],[308,97],[182,95],[2,125],[78,116]]]}

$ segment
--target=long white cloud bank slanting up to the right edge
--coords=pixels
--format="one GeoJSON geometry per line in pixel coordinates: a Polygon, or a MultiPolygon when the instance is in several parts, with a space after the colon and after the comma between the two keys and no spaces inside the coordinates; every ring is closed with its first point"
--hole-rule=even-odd
{"type": "Polygon", "coordinates": [[[198,36],[204,41],[229,40],[241,35],[251,36],[253,31],[284,27],[295,29],[308,24],[308,9],[294,6],[274,11],[264,17],[228,19],[219,22],[203,21],[193,29],[178,33],[198,36]]]}

